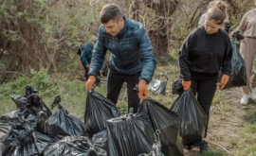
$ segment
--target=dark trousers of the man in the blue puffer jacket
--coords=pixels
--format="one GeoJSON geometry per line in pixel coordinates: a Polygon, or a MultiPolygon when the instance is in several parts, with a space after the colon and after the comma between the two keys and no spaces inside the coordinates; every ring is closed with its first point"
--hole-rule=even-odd
{"type": "Polygon", "coordinates": [[[128,93],[128,110],[130,108],[134,109],[134,113],[137,113],[137,108],[139,105],[139,98],[137,91],[134,87],[138,83],[138,77],[140,73],[134,75],[123,75],[114,69],[110,69],[107,76],[107,95],[106,97],[112,102],[117,104],[119,93],[124,82],[127,83],[127,93],[128,93]]]}

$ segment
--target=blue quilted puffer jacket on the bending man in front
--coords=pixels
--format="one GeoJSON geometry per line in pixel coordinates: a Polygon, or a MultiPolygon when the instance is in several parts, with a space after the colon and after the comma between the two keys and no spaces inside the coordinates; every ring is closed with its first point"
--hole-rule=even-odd
{"type": "Polygon", "coordinates": [[[124,75],[141,72],[138,79],[145,79],[149,83],[155,71],[155,56],[147,31],[137,21],[123,19],[124,27],[115,37],[100,26],[89,75],[98,76],[108,50],[111,53],[110,68],[124,75]]]}

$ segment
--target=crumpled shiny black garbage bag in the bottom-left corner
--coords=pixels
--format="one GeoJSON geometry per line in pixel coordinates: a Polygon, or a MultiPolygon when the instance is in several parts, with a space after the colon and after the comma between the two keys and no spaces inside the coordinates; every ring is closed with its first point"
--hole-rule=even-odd
{"type": "Polygon", "coordinates": [[[22,118],[12,120],[9,124],[12,129],[4,141],[4,145],[9,148],[4,151],[4,155],[39,156],[48,145],[55,142],[45,134],[33,131],[33,126],[22,118]]]}

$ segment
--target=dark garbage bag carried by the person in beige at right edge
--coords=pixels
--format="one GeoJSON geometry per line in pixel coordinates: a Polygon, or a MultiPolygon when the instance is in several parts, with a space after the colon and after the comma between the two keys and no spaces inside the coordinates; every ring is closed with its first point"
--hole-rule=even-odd
{"type": "MultiPolygon", "coordinates": [[[[244,59],[237,49],[234,38],[231,38],[232,45],[232,58],[231,58],[231,73],[229,82],[224,89],[231,87],[242,87],[247,85],[247,68],[244,59]]],[[[219,81],[222,78],[223,73],[219,72],[219,81]]]]}

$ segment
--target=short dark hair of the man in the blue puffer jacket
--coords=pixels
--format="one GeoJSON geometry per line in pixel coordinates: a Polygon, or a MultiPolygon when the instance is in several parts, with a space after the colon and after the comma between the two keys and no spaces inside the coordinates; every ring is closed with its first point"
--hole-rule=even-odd
{"type": "Polygon", "coordinates": [[[119,6],[116,4],[105,5],[100,13],[101,24],[106,24],[111,20],[117,22],[121,16],[122,12],[119,9],[119,6]]]}

